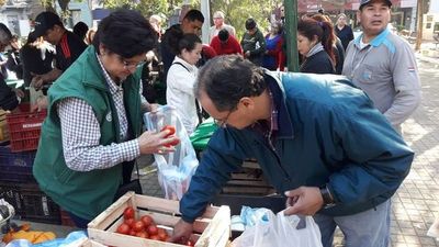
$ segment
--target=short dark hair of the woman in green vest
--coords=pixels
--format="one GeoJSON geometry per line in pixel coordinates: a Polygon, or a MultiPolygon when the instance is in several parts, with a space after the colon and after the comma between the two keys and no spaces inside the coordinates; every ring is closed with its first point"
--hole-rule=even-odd
{"type": "Polygon", "coordinates": [[[155,48],[157,36],[153,26],[139,12],[121,9],[99,24],[93,38],[93,46],[98,53],[100,44],[112,53],[131,58],[155,48]]]}

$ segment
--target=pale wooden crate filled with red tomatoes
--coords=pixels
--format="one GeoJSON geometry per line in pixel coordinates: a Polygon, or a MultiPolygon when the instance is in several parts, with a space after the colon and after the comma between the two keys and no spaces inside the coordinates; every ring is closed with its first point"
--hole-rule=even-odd
{"type": "Polygon", "coordinates": [[[130,191],[89,223],[88,234],[90,239],[108,246],[225,247],[229,243],[228,206],[207,206],[194,222],[189,240],[169,243],[179,220],[178,201],[130,191]]]}

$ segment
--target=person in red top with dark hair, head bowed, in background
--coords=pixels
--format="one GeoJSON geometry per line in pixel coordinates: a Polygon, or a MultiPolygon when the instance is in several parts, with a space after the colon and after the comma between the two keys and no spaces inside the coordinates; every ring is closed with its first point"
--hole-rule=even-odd
{"type": "Polygon", "coordinates": [[[243,48],[240,47],[239,42],[234,36],[230,36],[226,29],[221,30],[218,35],[212,38],[211,47],[215,49],[217,55],[243,55],[243,48]]]}

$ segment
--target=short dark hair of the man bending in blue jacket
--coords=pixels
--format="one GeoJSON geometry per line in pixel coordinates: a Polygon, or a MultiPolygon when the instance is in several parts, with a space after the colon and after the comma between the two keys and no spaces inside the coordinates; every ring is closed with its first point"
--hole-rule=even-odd
{"type": "Polygon", "coordinates": [[[205,92],[219,111],[232,111],[243,97],[257,97],[267,89],[262,68],[239,55],[217,56],[200,70],[194,92],[205,92]]]}

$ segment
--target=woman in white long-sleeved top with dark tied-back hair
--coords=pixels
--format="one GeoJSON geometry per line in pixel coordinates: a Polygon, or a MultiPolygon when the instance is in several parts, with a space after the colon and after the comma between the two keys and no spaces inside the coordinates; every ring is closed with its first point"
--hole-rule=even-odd
{"type": "Polygon", "coordinates": [[[199,124],[193,87],[198,75],[195,64],[201,58],[202,42],[195,34],[184,34],[176,46],[177,56],[168,70],[166,100],[177,109],[188,134],[199,124]]]}

